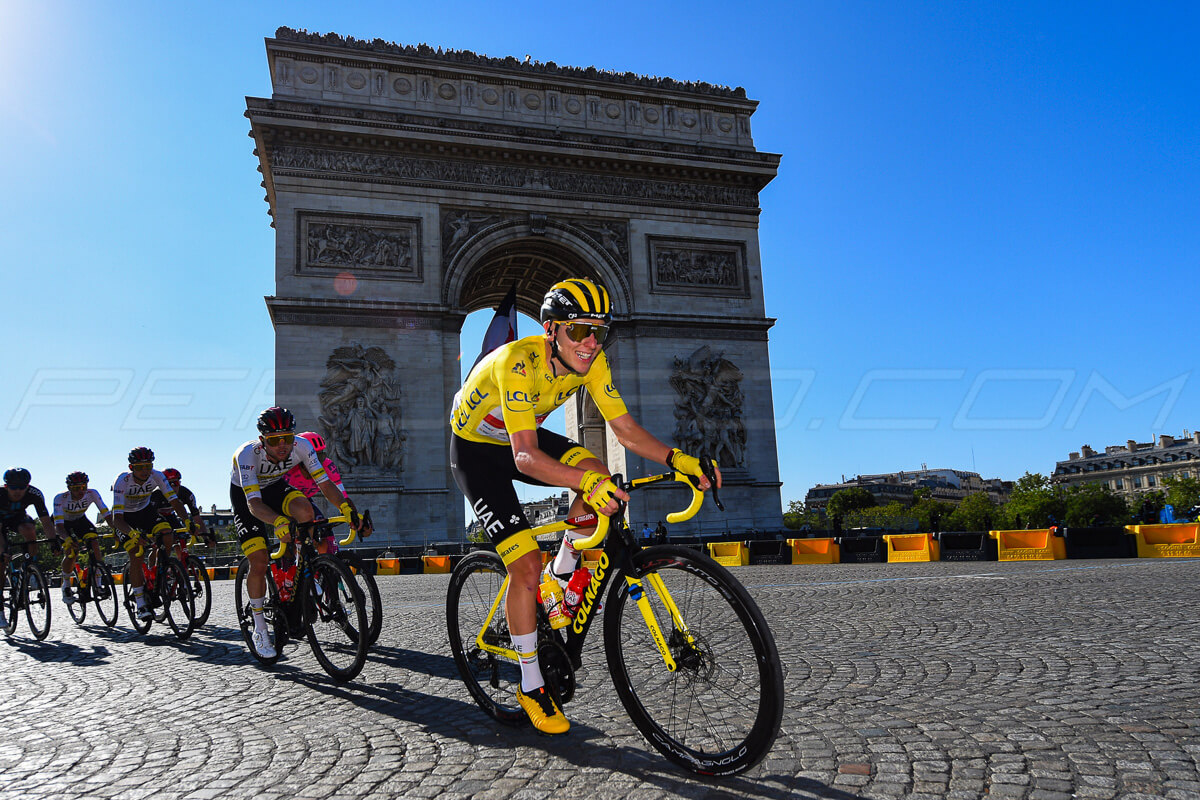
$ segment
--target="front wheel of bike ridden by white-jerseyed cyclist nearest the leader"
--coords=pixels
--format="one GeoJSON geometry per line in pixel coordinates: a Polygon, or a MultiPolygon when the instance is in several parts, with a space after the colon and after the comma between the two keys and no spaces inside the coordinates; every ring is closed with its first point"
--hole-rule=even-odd
{"type": "Polygon", "coordinates": [[[335,681],[353,680],[368,645],[366,601],[354,573],[340,559],[318,555],[300,591],[312,654],[335,681]]]}

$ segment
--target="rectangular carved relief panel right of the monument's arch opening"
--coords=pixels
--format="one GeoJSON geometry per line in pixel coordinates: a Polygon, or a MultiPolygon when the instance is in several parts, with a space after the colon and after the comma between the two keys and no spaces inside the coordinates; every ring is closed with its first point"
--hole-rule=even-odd
{"type": "Polygon", "coordinates": [[[647,247],[652,291],[750,296],[744,242],[647,236],[647,247]]]}

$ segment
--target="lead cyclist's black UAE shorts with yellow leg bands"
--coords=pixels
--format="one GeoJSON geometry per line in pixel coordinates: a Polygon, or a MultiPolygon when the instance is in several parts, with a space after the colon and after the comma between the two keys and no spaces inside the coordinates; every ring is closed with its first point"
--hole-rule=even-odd
{"type": "MultiPolygon", "coordinates": [[[[538,449],[564,464],[574,465],[583,458],[594,458],[577,441],[545,428],[538,428],[538,449]]],[[[517,499],[512,481],[532,486],[551,486],[518,470],[510,445],[468,441],[452,433],[450,471],[454,474],[454,482],[467,497],[475,517],[496,545],[514,534],[533,528],[521,509],[521,500],[517,499]]]]}

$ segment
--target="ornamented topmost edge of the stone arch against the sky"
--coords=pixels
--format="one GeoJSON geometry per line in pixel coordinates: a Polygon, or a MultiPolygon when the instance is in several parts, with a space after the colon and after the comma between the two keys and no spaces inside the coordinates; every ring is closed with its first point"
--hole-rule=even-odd
{"type": "Polygon", "coordinates": [[[480,71],[493,73],[502,78],[508,77],[530,83],[542,83],[550,78],[596,86],[628,88],[642,91],[707,97],[719,101],[722,104],[737,103],[749,106],[750,108],[757,106],[755,101],[746,100],[745,89],[740,86],[731,89],[730,86],[704,82],[640,76],[634,72],[605,71],[596,67],[559,66],[553,61],[545,64],[541,61],[520,61],[514,56],[500,59],[473,53],[472,50],[433,48],[427,44],[397,44],[396,42],[388,42],[382,38],[367,42],[353,36],[343,37],[334,32],[314,34],[287,26],[278,28],[275,31],[275,38],[268,40],[268,46],[277,49],[298,49],[298,46],[302,48],[319,48],[329,58],[343,58],[359,64],[372,64],[383,60],[385,64],[412,64],[416,68],[430,68],[431,64],[437,64],[443,70],[450,72],[480,71]]]}

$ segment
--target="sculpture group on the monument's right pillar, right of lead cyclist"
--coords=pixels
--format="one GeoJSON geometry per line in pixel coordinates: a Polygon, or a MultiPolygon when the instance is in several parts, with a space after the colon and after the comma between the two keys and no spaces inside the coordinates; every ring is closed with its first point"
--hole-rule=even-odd
{"type": "Polygon", "coordinates": [[[744,467],[746,428],[742,421],[742,371],[706,344],[674,360],[676,446],[722,468],[744,467]]]}

